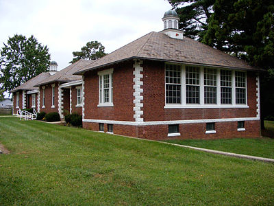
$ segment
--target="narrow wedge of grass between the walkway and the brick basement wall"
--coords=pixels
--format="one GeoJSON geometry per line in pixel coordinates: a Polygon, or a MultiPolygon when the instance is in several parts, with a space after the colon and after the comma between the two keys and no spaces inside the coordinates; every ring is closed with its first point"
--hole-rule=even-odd
{"type": "MultiPolygon", "coordinates": [[[[274,132],[274,122],[265,121],[265,126],[266,130],[273,130],[274,132]]],[[[256,139],[174,139],[167,140],[167,142],[274,159],[274,139],[268,137],[256,139]]]]}

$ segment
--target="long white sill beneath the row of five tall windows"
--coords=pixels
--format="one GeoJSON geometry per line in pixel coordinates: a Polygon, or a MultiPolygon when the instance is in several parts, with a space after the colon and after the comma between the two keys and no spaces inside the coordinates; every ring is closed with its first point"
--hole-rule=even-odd
{"type": "Polygon", "coordinates": [[[249,108],[243,104],[166,104],[164,108],[249,108]]]}

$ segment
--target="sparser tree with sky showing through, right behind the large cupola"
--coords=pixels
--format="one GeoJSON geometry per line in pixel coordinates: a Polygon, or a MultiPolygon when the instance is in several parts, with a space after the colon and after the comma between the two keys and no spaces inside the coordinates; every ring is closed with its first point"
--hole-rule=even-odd
{"type": "Polygon", "coordinates": [[[201,41],[208,30],[208,19],[215,0],[169,0],[179,15],[179,29],[184,36],[201,41]]]}

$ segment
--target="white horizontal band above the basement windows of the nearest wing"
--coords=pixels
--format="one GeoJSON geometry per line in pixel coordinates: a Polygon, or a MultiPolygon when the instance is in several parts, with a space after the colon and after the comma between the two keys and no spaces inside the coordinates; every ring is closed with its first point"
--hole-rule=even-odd
{"type": "Polygon", "coordinates": [[[153,122],[127,122],[105,119],[84,119],[83,122],[104,123],[104,124],[121,124],[131,126],[150,126],[150,125],[166,125],[166,124],[197,124],[197,123],[212,123],[212,122],[238,122],[238,121],[257,121],[258,117],[239,117],[226,119],[189,119],[189,120],[173,120],[173,121],[153,121],[153,122]]]}

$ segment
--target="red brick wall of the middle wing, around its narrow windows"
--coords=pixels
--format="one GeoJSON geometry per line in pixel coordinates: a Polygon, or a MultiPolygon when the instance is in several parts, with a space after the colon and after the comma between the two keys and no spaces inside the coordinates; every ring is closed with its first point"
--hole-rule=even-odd
{"type": "Polygon", "coordinates": [[[40,86],[40,112],[44,111],[45,113],[57,112],[58,113],[58,82],[52,83],[55,84],[54,89],[54,106],[55,108],[51,108],[51,84],[43,85],[45,86],[45,108],[42,108],[42,86],[40,86]]]}

